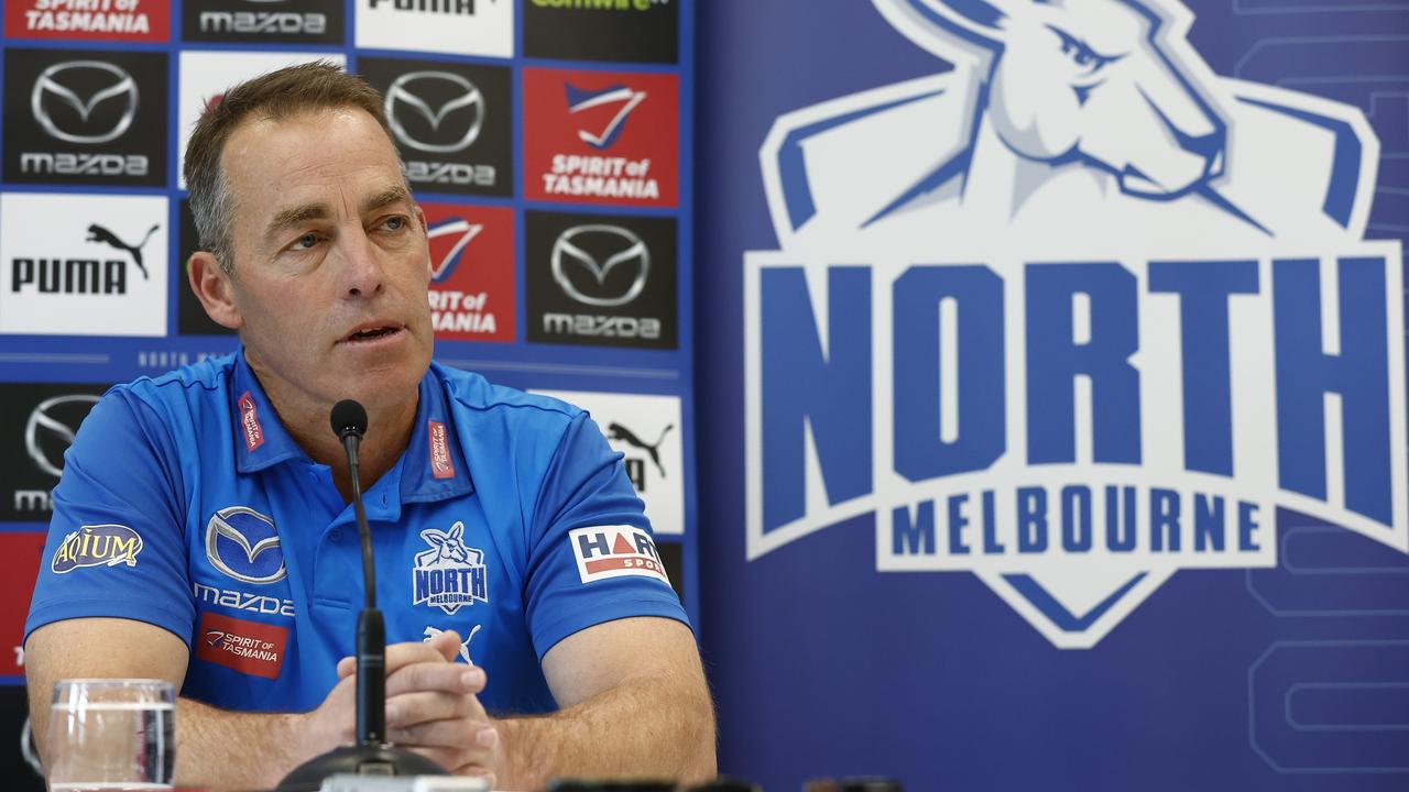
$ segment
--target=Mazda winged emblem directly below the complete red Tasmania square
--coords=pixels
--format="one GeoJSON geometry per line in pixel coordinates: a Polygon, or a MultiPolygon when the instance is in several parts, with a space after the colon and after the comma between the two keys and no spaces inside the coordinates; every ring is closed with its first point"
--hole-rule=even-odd
{"type": "Polygon", "coordinates": [[[579,303],[624,306],[645,289],[651,251],[620,225],[575,225],[552,244],[552,279],[579,303]],[[613,276],[613,271],[619,275],[613,276]],[[634,276],[621,276],[620,273],[634,276]]]}

